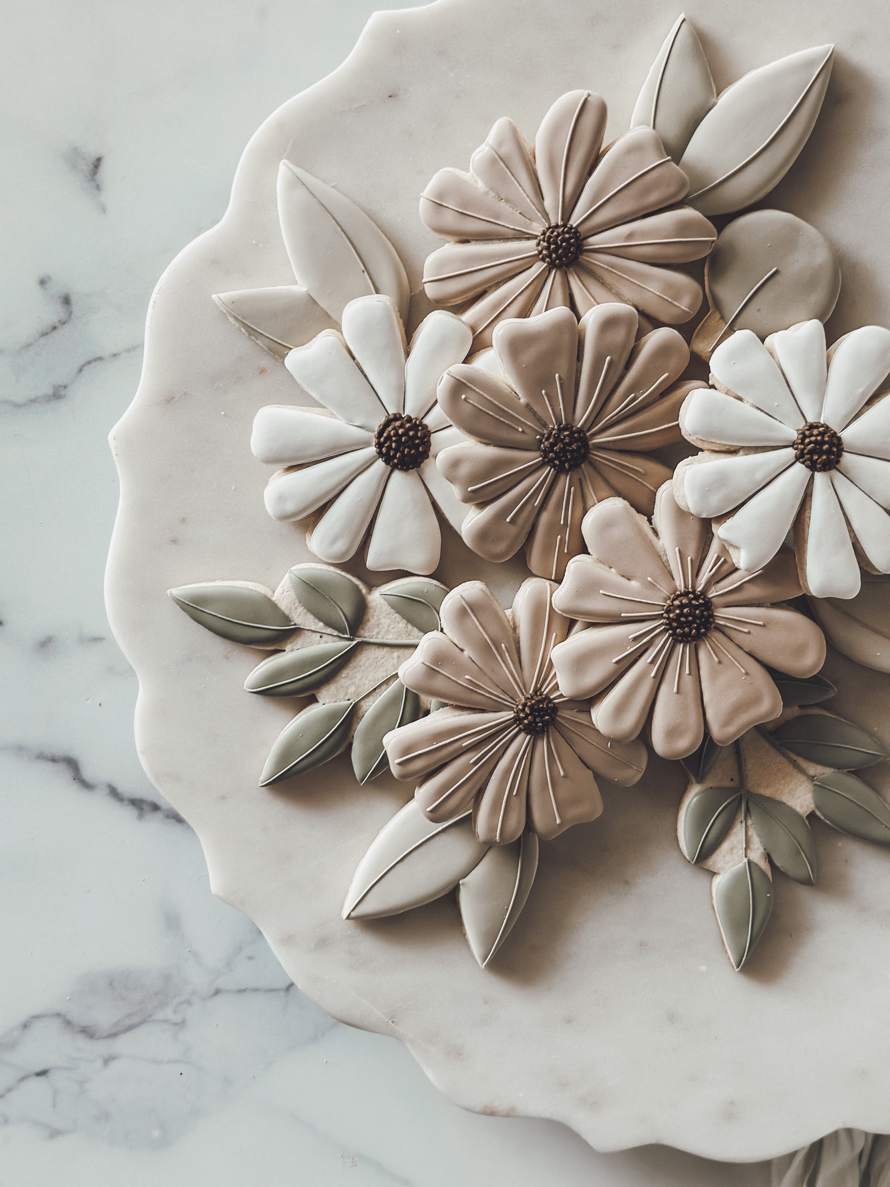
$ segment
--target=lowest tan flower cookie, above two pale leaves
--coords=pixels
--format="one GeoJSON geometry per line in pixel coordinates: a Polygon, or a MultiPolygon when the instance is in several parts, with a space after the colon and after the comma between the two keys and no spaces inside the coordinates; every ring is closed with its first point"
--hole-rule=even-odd
{"type": "Polygon", "coordinates": [[[572,623],[551,605],[554,586],[529,578],[510,618],[479,582],[441,603],[441,631],[425,635],[399,675],[408,688],[446,700],[443,709],[387,734],[396,779],[419,786],[431,820],[473,807],[481,840],[503,845],[526,824],[541,837],[603,811],[593,772],[635,783],[646,767],[641,742],[609,743],[585,702],[557,690],[551,649],[572,623]]]}

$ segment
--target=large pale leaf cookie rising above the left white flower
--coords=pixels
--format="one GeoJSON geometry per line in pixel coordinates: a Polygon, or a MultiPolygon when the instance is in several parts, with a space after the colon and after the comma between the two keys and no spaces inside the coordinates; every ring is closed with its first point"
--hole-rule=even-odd
{"type": "Polygon", "coordinates": [[[337,324],[356,297],[382,293],[407,320],[411,290],[395,248],[377,224],[339,190],[282,160],[278,216],[300,285],[337,324]]]}

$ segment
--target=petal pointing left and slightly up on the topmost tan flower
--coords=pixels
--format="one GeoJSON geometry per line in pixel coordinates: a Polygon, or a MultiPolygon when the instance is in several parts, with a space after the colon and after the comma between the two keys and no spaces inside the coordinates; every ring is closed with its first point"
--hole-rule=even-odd
{"type": "Polygon", "coordinates": [[[430,182],[420,198],[420,217],[446,239],[534,239],[540,230],[457,169],[441,169],[430,182]]]}

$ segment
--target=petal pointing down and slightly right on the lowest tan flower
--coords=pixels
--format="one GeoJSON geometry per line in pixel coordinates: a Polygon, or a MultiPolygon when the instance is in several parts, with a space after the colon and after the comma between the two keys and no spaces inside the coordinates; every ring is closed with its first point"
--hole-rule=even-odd
{"type": "Polygon", "coordinates": [[[547,730],[534,740],[528,782],[529,824],[545,840],[603,811],[597,781],[570,742],[547,730]]]}

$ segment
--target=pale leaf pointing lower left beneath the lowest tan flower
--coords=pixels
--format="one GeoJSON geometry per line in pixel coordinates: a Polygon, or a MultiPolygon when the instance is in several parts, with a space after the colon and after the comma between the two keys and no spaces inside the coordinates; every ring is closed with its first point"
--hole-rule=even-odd
{"type": "Polygon", "coordinates": [[[358,863],[343,903],[344,919],[398,915],[440,899],[488,850],[471,813],[432,824],[411,800],[389,820],[358,863]]]}

